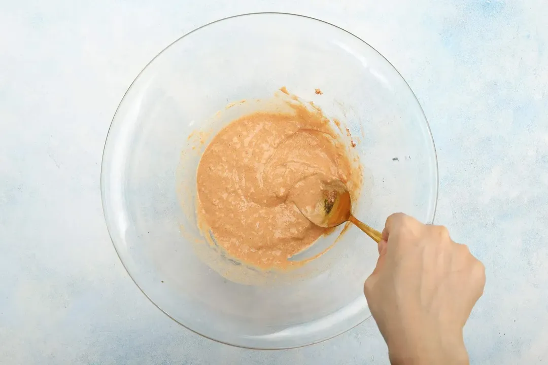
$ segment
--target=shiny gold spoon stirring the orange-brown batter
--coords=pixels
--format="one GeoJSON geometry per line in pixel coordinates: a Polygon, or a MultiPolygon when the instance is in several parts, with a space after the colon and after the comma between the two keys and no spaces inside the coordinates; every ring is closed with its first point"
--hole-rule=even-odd
{"type": "Polygon", "coordinates": [[[351,213],[352,202],[346,185],[340,180],[323,182],[321,194],[316,195],[316,201],[310,202],[310,196],[304,199],[295,199],[295,205],[310,222],[319,227],[330,228],[350,221],[364,231],[375,242],[379,243],[383,235],[376,229],[369,227],[356,219],[351,213]],[[310,204],[312,203],[312,204],[310,204]]]}

